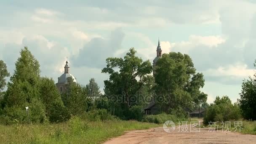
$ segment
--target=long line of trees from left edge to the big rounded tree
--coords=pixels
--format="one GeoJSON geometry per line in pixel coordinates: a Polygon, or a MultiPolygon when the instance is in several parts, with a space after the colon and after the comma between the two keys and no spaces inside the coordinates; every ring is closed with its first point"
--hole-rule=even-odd
{"type": "Polygon", "coordinates": [[[111,114],[142,120],[143,108],[153,99],[160,113],[187,117],[186,109],[197,109],[207,100],[200,91],[203,74],[196,72],[187,54],[163,54],[153,69],[149,60],[143,61],[131,48],[123,58],[108,58],[106,63],[102,73],[109,78],[104,81],[104,94],[94,79],[86,86],[69,80],[67,90],[59,93],[52,78],[40,76],[39,62],[25,47],[4,92],[9,73],[5,63],[0,63],[0,123],[27,123],[25,107],[32,123],[58,123],[72,115],[101,119],[111,114]]]}

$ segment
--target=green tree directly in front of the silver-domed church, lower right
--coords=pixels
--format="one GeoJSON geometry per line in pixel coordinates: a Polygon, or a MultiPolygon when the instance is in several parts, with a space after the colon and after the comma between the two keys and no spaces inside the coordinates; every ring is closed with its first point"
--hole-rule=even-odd
{"type": "Polygon", "coordinates": [[[61,98],[64,106],[71,115],[82,115],[86,112],[88,106],[86,103],[87,91],[73,80],[68,80],[67,89],[62,93],[61,98]]]}

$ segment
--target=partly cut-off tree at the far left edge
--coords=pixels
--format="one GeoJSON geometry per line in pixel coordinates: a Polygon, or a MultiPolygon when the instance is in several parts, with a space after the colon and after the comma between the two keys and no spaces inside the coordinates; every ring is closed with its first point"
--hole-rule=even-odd
{"type": "Polygon", "coordinates": [[[7,71],[7,66],[4,61],[0,60],[0,93],[5,88],[5,77],[9,77],[10,73],[7,71]]]}

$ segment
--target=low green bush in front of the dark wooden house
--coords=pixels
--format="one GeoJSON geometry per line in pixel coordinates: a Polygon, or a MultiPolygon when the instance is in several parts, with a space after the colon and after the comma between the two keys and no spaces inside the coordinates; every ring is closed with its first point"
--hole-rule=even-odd
{"type": "Polygon", "coordinates": [[[164,123],[167,120],[171,120],[174,123],[179,121],[179,118],[177,118],[175,115],[167,115],[165,113],[162,113],[160,115],[144,115],[142,121],[147,123],[164,123]]]}

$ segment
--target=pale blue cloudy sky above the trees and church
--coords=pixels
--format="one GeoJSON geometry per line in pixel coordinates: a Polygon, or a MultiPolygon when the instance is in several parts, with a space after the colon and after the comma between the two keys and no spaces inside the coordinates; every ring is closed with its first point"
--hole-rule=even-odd
{"type": "Polygon", "coordinates": [[[256,1],[0,0],[0,59],[11,74],[27,46],[42,76],[57,83],[68,57],[80,84],[94,77],[103,91],[106,58],[134,47],[153,61],[158,37],[163,53],[191,56],[209,103],[223,95],[236,102],[255,73],[256,1]]]}

